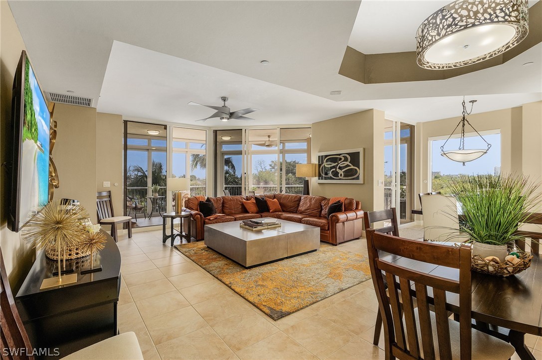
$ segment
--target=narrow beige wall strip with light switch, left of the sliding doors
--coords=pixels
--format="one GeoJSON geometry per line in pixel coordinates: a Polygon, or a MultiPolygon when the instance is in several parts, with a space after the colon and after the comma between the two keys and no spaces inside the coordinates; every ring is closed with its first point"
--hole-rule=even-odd
{"type": "Polygon", "coordinates": [[[122,215],[124,211],[122,206],[123,132],[122,115],[96,114],[96,191],[111,190],[113,211],[117,216],[122,215]],[[104,187],[104,181],[109,181],[111,186],[104,187]]]}

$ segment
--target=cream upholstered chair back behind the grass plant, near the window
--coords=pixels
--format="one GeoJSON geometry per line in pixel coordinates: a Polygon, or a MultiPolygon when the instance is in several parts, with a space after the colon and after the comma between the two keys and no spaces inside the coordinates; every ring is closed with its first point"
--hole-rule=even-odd
{"type": "Polygon", "coordinates": [[[462,241],[457,239],[459,218],[457,200],[446,195],[422,195],[423,239],[426,241],[462,241]]]}

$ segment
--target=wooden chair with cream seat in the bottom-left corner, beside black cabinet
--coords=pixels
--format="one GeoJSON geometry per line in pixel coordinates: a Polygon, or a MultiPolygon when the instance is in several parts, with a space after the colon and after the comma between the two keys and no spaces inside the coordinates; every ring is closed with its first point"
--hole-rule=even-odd
{"type": "MultiPolygon", "coordinates": [[[[23,322],[19,316],[15,299],[11,293],[11,287],[5,271],[4,258],[0,248],[0,350],[2,359],[27,360],[34,359],[33,347],[23,322]],[[22,351],[23,349],[26,349],[22,351]],[[18,355],[9,350],[18,350],[18,355]],[[8,351],[7,355],[5,351],[8,351]]],[[[65,354],[60,354],[64,356],[65,354]]],[[[88,346],[74,352],[63,359],[143,359],[139,342],[134,332],[126,332],[121,335],[107,338],[99,343],[88,346]]]]}

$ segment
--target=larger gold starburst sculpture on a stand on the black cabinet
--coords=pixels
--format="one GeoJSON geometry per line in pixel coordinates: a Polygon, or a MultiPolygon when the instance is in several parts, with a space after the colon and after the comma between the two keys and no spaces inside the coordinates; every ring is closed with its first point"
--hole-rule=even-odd
{"type": "Polygon", "coordinates": [[[63,205],[54,200],[43,207],[22,229],[22,237],[27,243],[42,249],[53,245],[59,253],[59,282],[61,253],[70,246],[77,245],[86,234],[85,222],[88,212],[82,206],[63,205]]]}

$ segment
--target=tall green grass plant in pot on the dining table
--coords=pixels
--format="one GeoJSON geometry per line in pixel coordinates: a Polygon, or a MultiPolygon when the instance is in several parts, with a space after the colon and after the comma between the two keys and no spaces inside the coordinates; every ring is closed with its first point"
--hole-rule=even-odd
{"type": "Polygon", "coordinates": [[[505,260],[507,245],[521,238],[518,224],[540,203],[539,185],[524,175],[461,175],[451,180],[450,191],[464,220],[459,230],[473,244],[473,256],[505,260]]]}

